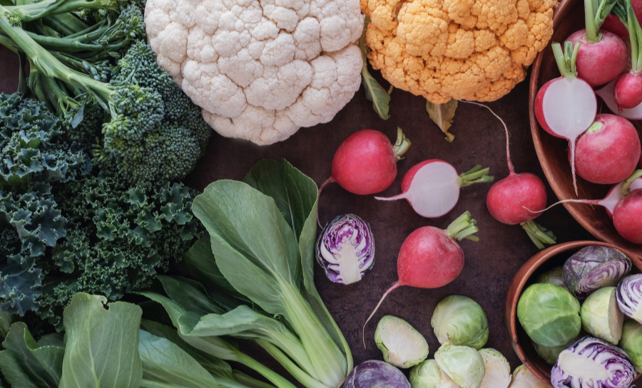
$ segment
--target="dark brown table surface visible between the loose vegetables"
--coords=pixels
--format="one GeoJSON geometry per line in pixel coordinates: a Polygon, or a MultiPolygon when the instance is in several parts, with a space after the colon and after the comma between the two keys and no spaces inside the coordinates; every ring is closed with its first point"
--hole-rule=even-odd
{"type": "MultiPolygon", "coordinates": [[[[17,57],[0,46],[0,92],[14,93],[17,88],[17,57]]],[[[384,88],[379,72],[373,72],[384,88]]],[[[488,103],[505,121],[511,133],[512,160],[516,172],[532,172],[546,182],[531,139],[528,109],[529,79],[501,100],[488,103]]],[[[412,146],[405,159],[397,166],[397,179],[382,196],[400,192],[403,174],[425,159],[443,159],[459,172],[476,164],[490,167],[496,180],[508,175],[505,154],[504,129],[491,113],[464,103],[459,104],[452,132],[456,137],[448,143],[425,109],[425,100],[403,90],[392,91],[389,120],[381,120],[372,103],[366,100],[363,89],[341,110],[331,122],[310,128],[301,128],[285,142],[258,147],[250,142],[213,135],[208,155],[198,163],[185,183],[203,189],[217,179],[242,179],[258,160],[270,157],[285,158],[320,184],[330,176],[332,156],[341,142],[353,132],[370,128],[384,132],[394,142],[397,126],[402,127],[412,146]]],[[[327,308],[337,321],[350,344],[355,364],[366,360],[382,360],[382,353],[374,345],[374,329],[384,315],[396,315],[407,320],[426,337],[433,358],[439,343],[430,327],[432,310],[447,295],[467,295],[484,308],[490,325],[486,347],[499,350],[514,369],[521,364],[513,352],[504,325],[504,302],[509,284],[519,267],[538,251],[519,226],[508,226],[495,221],[486,209],[486,193],[491,184],[464,187],[459,203],[446,216],[424,219],[417,215],[406,201],[382,202],[373,196],[350,194],[337,184],[324,189],[320,199],[320,219],[327,222],[339,214],[354,213],[370,223],[376,246],[372,270],[362,281],[352,285],[335,284],[327,280],[322,269],[315,268],[315,283],[327,308]],[[480,241],[460,243],[466,255],[461,275],[449,285],[423,290],[402,287],[391,293],[365,330],[367,348],[361,340],[361,329],[384,290],[397,281],[397,253],[404,239],[421,226],[431,225],[445,229],[464,211],[470,211],[479,226],[480,241]]],[[[547,184],[548,187],[548,184],[547,184]]],[[[549,204],[556,201],[548,187],[549,204]]],[[[546,211],[536,220],[554,231],[558,242],[594,239],[571,218],[564,206],[546,211]]]]}

